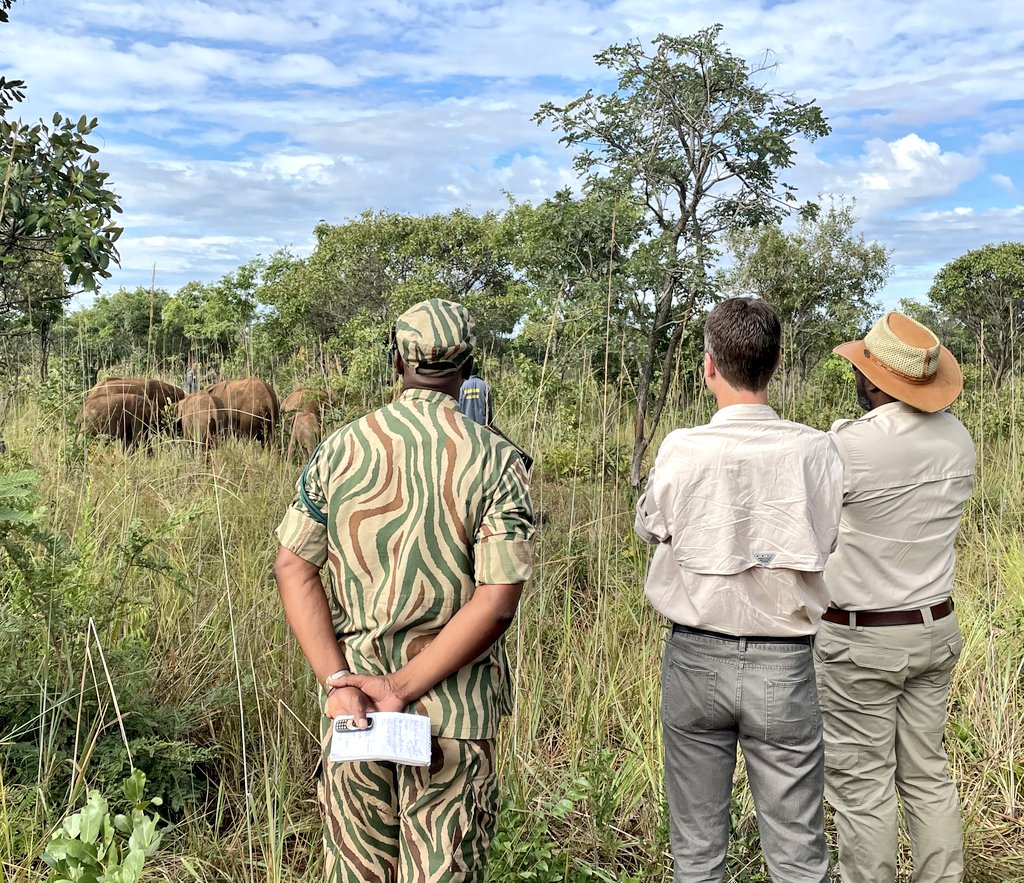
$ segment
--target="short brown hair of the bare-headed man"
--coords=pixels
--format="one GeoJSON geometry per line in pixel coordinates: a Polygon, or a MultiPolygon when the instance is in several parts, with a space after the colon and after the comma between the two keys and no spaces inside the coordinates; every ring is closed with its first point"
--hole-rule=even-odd
{"type": "Polygon", "coordinates": [[[778,366],[782,325],[763,300],[734,297],[705,323],[705,349],[730,386],[760,392],[778,366]]]}

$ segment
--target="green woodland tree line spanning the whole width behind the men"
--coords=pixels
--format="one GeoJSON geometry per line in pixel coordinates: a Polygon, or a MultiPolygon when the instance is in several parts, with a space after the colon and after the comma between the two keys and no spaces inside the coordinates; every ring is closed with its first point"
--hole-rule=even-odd
{"type": "MultiPolygon", "coordinates": [[[[0,0],[6,20],[13,0],[0,0]]],[[[6,383],[61,374],[88,388],[112,371],[310,376],[366,384],[383,369],[392,319],[424,297],[469,307],[490,359],[557,370],[589,361],[634,412],[631,478],[670,395],[687,388],[706,307],[726,294],[770,301],[785,329],[784,382],[799,385],[879,310],[887,250],[856,232],[853,206],[799,203],[785,179],[801,140],[828,134],[813,100],[767,83],[721,26],[596,55],[615,80],[544,104],[573,152],[575,191],[497,212],[368,211],[321,223],[308,257],[259,256],[177,291],[100,292],[117,263],[117,196],[90,137],[96,120],[11,119],[25,94],[0,79],[0,372],[6,383]],[[56,344],[56,346],[55,346],[56,344]]],[[[1024,244],[986,246],[907,304],[998,385],[1020,364],[1024,244]]]]}

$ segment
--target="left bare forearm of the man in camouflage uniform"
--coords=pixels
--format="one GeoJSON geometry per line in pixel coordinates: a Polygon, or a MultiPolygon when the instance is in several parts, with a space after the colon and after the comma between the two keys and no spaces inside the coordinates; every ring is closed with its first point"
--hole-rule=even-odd
{"type": "Polygon", "coordinates": [[[282,546],[273,565],[285,616],[321,683],[346,667],[331,623],[319,567],[282,546]]]}

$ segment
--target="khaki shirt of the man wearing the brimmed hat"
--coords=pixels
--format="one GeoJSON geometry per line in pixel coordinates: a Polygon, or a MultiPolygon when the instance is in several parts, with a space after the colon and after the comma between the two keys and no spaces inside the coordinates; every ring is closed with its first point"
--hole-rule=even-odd
{"type": "Polygon", "coordinates": [[[831,428],[845,466],[839,545],[825,584],[848,611],[924,607],[949,596],[953,542],[974,487],[971,435],[948,411],[894,402],[831,428]]]}

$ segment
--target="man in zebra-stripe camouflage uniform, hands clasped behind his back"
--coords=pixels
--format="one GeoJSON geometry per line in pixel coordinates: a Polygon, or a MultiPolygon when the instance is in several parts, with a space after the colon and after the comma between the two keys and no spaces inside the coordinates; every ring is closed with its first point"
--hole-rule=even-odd
{"type": "Polygon", "coordinates": [[[428,300],[392,335],[402,392],[313,454],[278,537],[289,623],[323,685],[326,879],[482,881],[511,710],[502,635],[532,569],[526,471],[457,410],[466,310],[428,300]],[[328,565],[325,590],[319,572],[328,565]],[[331,763],[331,719],[429,715],[429,767],[331,763]]]}

